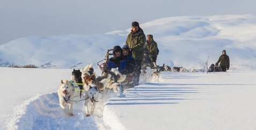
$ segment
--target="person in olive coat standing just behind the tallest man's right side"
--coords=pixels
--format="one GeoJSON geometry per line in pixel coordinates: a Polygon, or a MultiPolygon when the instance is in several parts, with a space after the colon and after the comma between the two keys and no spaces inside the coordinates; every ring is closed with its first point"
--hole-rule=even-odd
{"type": "Polygon", "coordinates": [[[148,51],[148,54],[152,62],[156,63],[157,59],[157,43],[153,40],[153,35],[147,35],[147,43],[144,46],[145,50],[148,51]]]}

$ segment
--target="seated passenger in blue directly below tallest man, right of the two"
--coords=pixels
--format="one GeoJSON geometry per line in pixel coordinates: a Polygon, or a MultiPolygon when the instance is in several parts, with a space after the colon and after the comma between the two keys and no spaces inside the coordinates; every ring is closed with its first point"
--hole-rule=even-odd
{"type": "Polygon", "coordinates": [[[122,75],[133,74],[134,68],[137,63],[133,58],[133,54],[130,51],[130,47],[128,45],[124,45],[122,48],[123,48],[123,60],[126,60],[126,68],[121,70],[120,72],[122,75]]]}

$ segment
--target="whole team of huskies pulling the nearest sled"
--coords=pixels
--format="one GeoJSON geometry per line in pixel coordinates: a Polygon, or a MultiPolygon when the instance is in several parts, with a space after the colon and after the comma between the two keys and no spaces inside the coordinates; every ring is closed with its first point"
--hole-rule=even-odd
{"type": "Polygon", "coordinates": [[[60,101],[60,107],[68,116],[74,116],[72,106],[74,102],[83,101],[85,107],[85,116],[93,114],[98,94],[107,94],[107,91],[123,92],[120,83],[123,82],[126,75],[122,75],[118,68],[111,69],[111,72],[103,72],[102,76],[96,78],[92,64],[87,65],[81,71],[73,70],[71,80],[61,80],[60,88],[57,94],[60,101]],[[116,82],[114,82],[116,80],[116,82]],[[89,109],[90,103],[90,109],[89,109]],[[67,108],[66,108],[67,106],[67,108]]]}

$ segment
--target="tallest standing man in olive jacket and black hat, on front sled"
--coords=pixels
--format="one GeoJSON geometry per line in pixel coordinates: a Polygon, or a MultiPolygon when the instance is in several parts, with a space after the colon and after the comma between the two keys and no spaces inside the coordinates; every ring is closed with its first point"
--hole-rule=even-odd
{"type": "Polygon", "coordinates": [[[131,23],[131,32],[128,34],[125,45],[130,47],[130,51],[133,53],[133,57],[137,63],[135,67],[135,79],[136,85],[140,80],[141,74],[141,62],[144,58],[144,44],[146,42],[146,36],[143,30],[140,28],[138,22],[134,21],[131,23]]]}

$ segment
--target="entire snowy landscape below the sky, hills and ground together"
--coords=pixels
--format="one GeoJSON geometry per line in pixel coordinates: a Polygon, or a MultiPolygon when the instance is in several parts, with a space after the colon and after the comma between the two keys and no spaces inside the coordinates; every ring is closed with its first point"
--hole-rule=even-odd
{"type": "Polygon", "coordinates": [[[216,15],[141,23],[158,43],[157,64],[189,72],[162,72],[159,82],[105,96],[90,117],[83,117],[83,103],[74,104],[74,117],[64,116],[56,93],[61,79],[90,63],[99,76],[97,62],[108,48],[122,46],[130,29],[12,40],[0,45],[3,61],[41,68],[0,68],[0,128],[256,129],[255,22],[255,15],[216,15]],[[203,73],[208,56],[215,63],[222,50],[230,56],[230,70],[203,73]]]}

